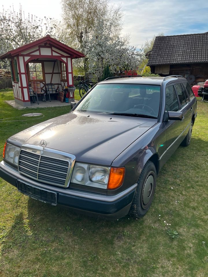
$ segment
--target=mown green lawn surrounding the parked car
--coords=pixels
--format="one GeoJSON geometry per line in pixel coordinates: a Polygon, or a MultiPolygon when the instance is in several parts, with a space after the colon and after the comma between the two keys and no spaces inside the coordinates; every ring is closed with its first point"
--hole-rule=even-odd
{"type": "MultiPolygon", "coordinates": [[[[1,118],[25,113],[4,102],[11,99],[11,92],[0,92],[1,118]]],[[[9,136],[68,108],[30,111],[45,117],[0,123],[1,153],[9,136]]],[[[138,220],[75,214],[28,198],[1,179],[0,276],[207,276],[207,134],[208,103],[198,101],[191,144],[179,147],[164,165],[152,206],[138,220]]]]}

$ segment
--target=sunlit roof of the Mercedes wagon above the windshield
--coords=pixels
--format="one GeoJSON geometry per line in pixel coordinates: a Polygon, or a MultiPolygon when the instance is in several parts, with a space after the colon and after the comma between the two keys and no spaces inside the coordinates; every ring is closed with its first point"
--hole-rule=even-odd
{"type": "MultiPolygon", "coordinates": [[[[168,77],[168,76],[167,76],[168,77]]],[[[161,85],[162,82],[169,83],[170,81],[187,81],[185,78],[170,77],[164,80],[164,77],[132,77],[132,78],[113,78],[99,82],[99,84],[144,84],[144,85],[161,85]]]]}

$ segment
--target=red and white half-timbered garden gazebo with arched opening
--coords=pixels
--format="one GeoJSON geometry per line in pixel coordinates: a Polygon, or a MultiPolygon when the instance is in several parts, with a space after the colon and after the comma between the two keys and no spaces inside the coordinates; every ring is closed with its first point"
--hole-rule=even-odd
{"type": "Polygon", "coordinates": [[[32,81],[40,82],[43,91],[47,83],[61,91],[73,85],[72,59],[83,57],[81,52],[46,35],[1,55],[0,59],[9,59],[15,102],[30,106],[32,81]]]}

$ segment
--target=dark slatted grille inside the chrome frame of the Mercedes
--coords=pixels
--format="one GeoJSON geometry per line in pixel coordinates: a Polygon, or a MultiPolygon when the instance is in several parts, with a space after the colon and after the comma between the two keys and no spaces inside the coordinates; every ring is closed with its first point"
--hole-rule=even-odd
{"type": "Polygon", "coordinates": [[[71,164],[49,156],[21,150],[19,172],[38,181],[56,186],[67,186],[66,179],[71,164]]]}

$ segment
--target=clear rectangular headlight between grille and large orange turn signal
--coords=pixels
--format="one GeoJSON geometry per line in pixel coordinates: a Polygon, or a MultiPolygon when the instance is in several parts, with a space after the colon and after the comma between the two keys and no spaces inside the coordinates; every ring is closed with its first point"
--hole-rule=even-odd
{"type": "Polygon", "coordinates": [[[110,167],[76,162],[71,182],[74,184],[107,189],[110,167]]]}

